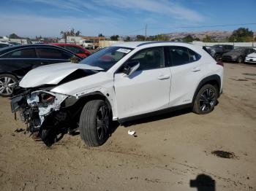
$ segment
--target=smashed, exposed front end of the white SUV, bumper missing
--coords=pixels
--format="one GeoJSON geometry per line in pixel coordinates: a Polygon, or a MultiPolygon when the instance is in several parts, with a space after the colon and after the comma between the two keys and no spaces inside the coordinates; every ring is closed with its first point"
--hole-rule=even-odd
{"type": "Polygon", "coordinates": [[[50,147],[59,135],[72,133],[78,128],[75,118],[79,109],[72,109],[76,101],[71,95],[30,89],[12,97],[11,109],[20,114],[27,130],[50,147]]]}

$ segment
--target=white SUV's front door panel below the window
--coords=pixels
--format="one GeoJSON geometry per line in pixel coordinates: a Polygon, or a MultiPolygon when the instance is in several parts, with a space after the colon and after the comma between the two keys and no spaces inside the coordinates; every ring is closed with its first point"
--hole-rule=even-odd
{"type": "Polygon", "coordinates": [[[170,95],[170,69],[135,71],[131,76],[115,74],[118,118],[167,108],[170,95]]]}

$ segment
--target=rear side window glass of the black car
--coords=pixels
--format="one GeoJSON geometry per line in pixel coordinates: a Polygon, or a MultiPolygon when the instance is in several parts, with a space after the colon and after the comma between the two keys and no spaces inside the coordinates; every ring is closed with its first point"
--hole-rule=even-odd
{"type": "Polygon", "coordinates": [[[72,55],[69,54],[68,52],[64,52],[63,50],[50,48],[50,47],[37,48],[37,55],[39,56],[39,58],[63,59],[63,60],[68,60],[72,57],[72,55]]]}

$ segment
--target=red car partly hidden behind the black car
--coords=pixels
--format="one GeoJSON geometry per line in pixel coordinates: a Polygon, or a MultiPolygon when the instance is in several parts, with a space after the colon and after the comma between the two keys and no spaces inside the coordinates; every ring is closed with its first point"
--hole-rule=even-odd
{"type": "Polygon", "coordinates": [[[85,48],[81,47],[77,44],[65,44],[65,43],[53,43],[52,45],[63,47],[71,52],[74,52],[76,55],[79,55],[80,57],[86,58],[89,55],[91,55],[91,52],[86,50],[85,48]]]}

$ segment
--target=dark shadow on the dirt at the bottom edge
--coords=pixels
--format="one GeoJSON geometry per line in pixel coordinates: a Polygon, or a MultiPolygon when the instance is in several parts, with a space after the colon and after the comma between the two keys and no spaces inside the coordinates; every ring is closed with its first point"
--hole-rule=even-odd
{"type": "Polygon", "coordinates": [[[197,191],[215,191],[215,180],[206,174],[199,174],[194,180],[190,180],[190,187],[196,187],[197,191]]]}

